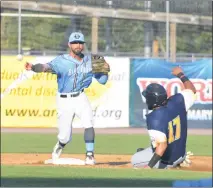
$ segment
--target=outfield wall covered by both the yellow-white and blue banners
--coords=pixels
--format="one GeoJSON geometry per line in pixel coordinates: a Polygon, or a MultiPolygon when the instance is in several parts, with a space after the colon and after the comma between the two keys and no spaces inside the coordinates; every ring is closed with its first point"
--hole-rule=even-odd
{"type": "MultiPolygon", "coordinates": [[[[55,127],[56,76],[50,73],[22,72],[26,61],[46,63],[54,57],[1,57],[2,127],[55,127]]],[[[106,57],[111,72],[106,85],[95,79],[85,90],[93,108],[95,127],[143,127],[147,108],[141,91],[151,82],[164,84],[169,95],[182,88],[182,83],[171,75],[172,67],[181,65],[195,83],[196,104],[188,113],[189,127],[211,128],[212,122],[212,60],[190,63],[169,63],[152,59],[106,57]]],[[[78,118],[74,128],[81,128],[78,118]]]]}

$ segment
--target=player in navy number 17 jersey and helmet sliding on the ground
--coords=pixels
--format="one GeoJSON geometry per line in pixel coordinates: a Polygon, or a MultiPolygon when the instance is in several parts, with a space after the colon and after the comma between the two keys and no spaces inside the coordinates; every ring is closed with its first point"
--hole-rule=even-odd
{"type": "Polygon", "coordinates": [[[133,167],[172,168],[186,159],[187,111],[195,101],[196,90],[180,67],[172,73],[183,82],[181,93],[167,98],[164,87],[156,83],[142,92],[152,110],[146,118],[151,147],[132,156],[133,167]]]}

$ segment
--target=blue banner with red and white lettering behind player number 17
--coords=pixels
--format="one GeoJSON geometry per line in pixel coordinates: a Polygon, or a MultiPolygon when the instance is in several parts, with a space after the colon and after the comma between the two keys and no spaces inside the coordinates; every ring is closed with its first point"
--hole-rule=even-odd
{"type": "Polygon", "coordinates": [[[194,83],[197,99],[188,111],[188,126],[191,128],[212,128],[212,60],[171,63],[153,59],[131,59],[130,68],[130,126],[146,126],[149,112],[141,92],[150,83],[163,85],[171,96],[184,87],[171,72],[181,66],[185,75],[194,83]]]}

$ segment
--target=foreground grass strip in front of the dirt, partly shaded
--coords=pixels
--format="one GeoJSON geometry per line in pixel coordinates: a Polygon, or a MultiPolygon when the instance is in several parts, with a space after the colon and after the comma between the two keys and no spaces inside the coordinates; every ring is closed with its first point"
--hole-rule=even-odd
{"type": "Polygon", "coordinates": [[[162,170],[3,166],[1,183],[2,186],[170,187],[174,180],[211,176],[211,173],[207,172],[175,170],[162,172],[162,170]]]}

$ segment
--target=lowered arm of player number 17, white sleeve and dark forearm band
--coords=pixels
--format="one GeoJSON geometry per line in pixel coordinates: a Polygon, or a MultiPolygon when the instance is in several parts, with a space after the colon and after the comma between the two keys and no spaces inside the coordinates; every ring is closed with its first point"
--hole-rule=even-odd
{"type": "Polygon", "coordinates": [[[153,168],[165,153],[168,145],[166,134],[161,131],[149,130],[149,136],[152,141],[152,146],[156,148],[155,153],[148,164],[150,168],[153,168]]]}

